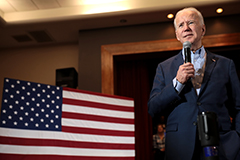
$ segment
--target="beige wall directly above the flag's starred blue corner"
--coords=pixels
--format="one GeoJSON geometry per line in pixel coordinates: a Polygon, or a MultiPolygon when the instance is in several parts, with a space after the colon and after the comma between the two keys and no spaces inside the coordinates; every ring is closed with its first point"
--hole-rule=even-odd
{"type": "Polygon", "coordinates": [[[78,44],[0,50],[0,100],[5,77],[55,85],[56,69],[78,70],[78,44]]]}

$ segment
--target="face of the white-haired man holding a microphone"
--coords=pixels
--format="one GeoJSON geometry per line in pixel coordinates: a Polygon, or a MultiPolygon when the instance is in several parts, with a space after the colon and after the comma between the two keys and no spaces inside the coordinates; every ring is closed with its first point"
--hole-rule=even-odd
{"type": "Polygon", "coordinates": [[[197,13],[182,11],[176,17],[176,37],[181,42],[189,41],[193,47],[201,47],[201,39],[205,34],[205,25],[201,24],[197,13]]]}

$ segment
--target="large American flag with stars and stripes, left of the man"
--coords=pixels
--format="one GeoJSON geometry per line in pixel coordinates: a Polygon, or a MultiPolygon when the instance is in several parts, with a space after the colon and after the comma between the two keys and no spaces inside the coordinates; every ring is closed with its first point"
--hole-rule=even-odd
{"type": "Polygon", "coordinates": [[[0,159],[134,160],[134,101],[5,78],[0,159]]]}

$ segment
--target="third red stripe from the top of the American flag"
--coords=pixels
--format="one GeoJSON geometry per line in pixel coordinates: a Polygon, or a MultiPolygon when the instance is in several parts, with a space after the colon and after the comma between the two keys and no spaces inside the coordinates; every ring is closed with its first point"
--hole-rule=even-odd
{"type": "Polygon", "coordinates": [[[70,113],[70,112],[63,112],[62,118],[100,121],[100,122],[109,122],[109,123],[134,124],[134,119],[114,118],[114,117],[105,117],[105,116],[97,116],[97,115],[89,115],[89,114],[81,114],[81,113],[70,113]]]}

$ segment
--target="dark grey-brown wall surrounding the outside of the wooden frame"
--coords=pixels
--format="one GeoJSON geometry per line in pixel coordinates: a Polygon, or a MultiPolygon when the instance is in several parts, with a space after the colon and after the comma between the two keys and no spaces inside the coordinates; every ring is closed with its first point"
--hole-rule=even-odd
{"type": "MultiPolygon", "coordinates": [[[[240,15],[205,18],[206,35],[240,32],[240,15]]],[[[173,22],[79,31],[78,88],[101,92],[101,45],[173,39],[173,22]]]]}

